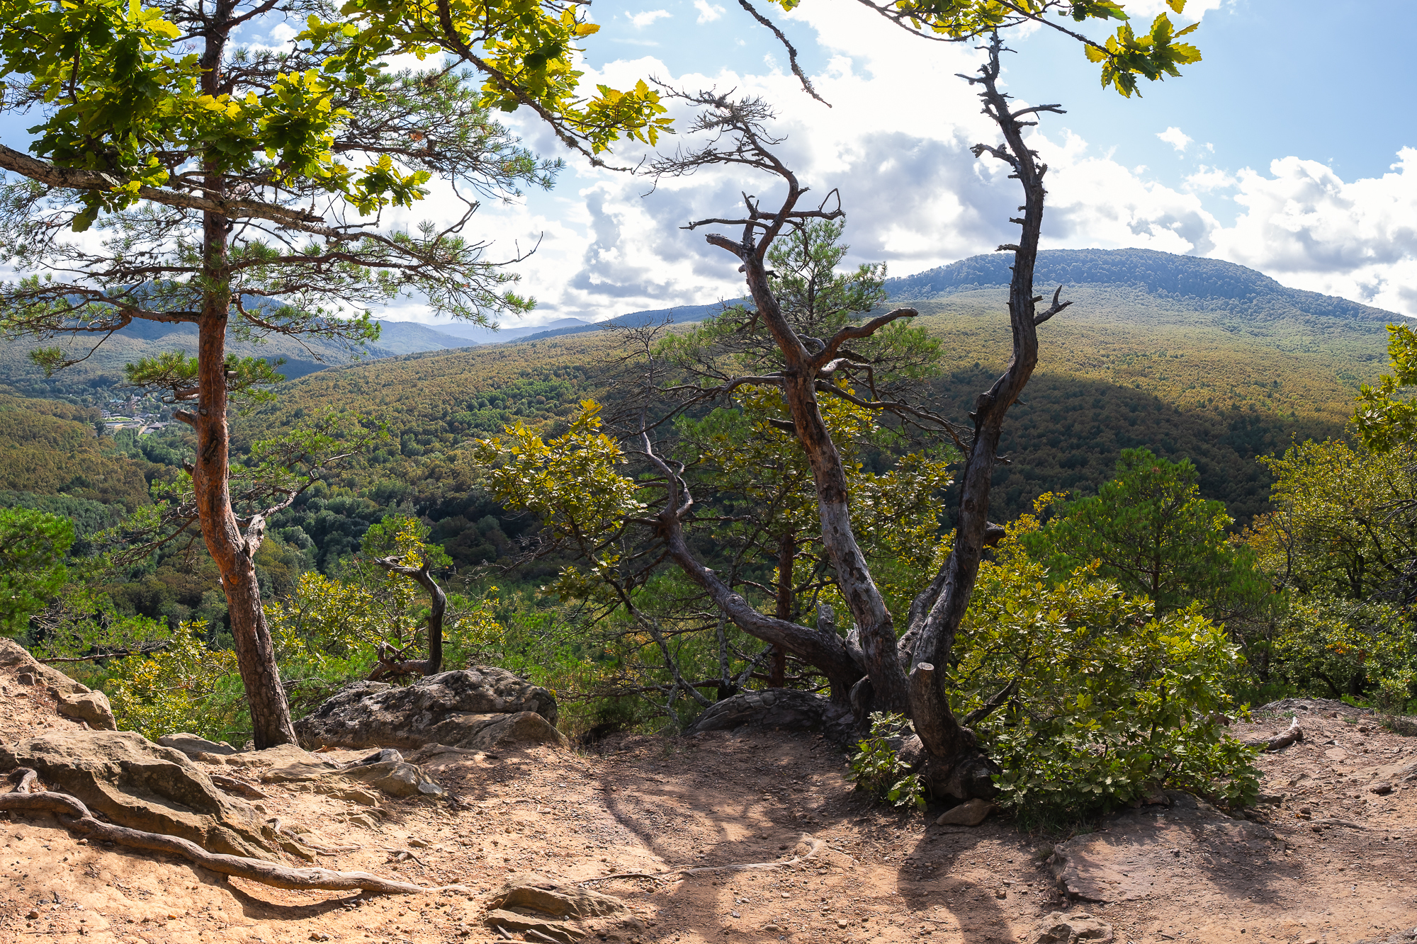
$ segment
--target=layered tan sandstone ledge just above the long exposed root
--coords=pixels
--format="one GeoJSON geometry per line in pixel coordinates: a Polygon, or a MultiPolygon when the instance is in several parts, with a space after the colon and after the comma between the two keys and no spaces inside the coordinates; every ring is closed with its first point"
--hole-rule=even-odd
{"type": "Polygon", "coordinates": [[[181,836],[211,852],[275,853],[248,802],[218,791],[181,751],[136,731],[51,733],[0,746],[0,768],[10,767],[33,767],[47,787],[123,826],[181,836]]]}

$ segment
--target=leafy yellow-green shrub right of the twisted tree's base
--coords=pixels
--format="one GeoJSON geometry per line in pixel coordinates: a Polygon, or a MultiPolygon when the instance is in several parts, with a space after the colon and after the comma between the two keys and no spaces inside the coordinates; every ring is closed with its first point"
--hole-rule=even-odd
{"type": "Polygon", "coordinates": [[[1009,689],[975,731],[1002,767],[999,801],[1024,818],[1078,818],[1156,788],[1244,804],[1254,751],[1229,737],[1227,689],[1243,658],[1192,605],[1153,617],[1090,567],[1049,580],[1020,519],[986,563],[959,638],[959,713],[1009,689]]]}

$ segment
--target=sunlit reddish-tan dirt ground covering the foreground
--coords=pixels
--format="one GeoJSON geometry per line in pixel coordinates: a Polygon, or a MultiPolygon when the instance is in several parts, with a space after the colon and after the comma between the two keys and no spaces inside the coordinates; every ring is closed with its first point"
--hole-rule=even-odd
{"type": "MultiPolygon", "coordinates": [[[[0,741],[81,727],[57,717],[43,689],[3,673],[0,689],[0,741]]],[[[1237,733],[1285,723],[1260,720],[1237,733]]],[[[867,804],[850,792],[839,747],[745,729],[612,737],[589,751],[438,754],[425,768],[451,801],[370,808],[261,785],[262,812],[326,846],[357,846],[320,865],[468,889],[417,896],[227,880],[81,842],[51,816],[16,814],[0,816],[0,941],[506,940],[486,927],[483,896],[509,876],[588,882],[622,899],[632,917],[592,933],[592,944],[1032,941],[1040,916],[1057,910],[1100,917],[1117,941],[1135,944],[1352,944],[1417,926],[1417,778],[1399,777],[1417,761],[1417,738],[1325,714],[1302,723],[1301,744],[1261,758],[1264,790],[1280,802],[1247,824],[1217,812],[1124,811],[1066,842],[1022,833],[999,816],[976,828],[937,826],[938,809],[927,816],[867,804]],[[1393,788],[1372,792],[1383,785],[1393,788]],[[813,848],[809,859],[768,869],[602,877],[781,863],[813,848]],[[1090,887],[1115,886],[1102,897],[1118,900],[1060,892],[1066,850],[1084,848],[1090,887]],[[1138,852],[1151,865],[1132,873],[1141,866],[1128,856],[1138,852]]],[[[259,771],[221,768],[251,782],[259,771]]],[[[1078,856],[1073,862],[1077,869],[1078,856]]]]}

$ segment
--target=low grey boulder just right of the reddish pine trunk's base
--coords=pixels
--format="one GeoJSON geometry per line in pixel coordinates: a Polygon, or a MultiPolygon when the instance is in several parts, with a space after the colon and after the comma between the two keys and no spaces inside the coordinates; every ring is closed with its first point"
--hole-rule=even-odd
{"type": "Polygon", "coordinates": [[[555,714],[555,696],[541,686],[506,669],[479,666],[431,675],[408,687],[356,682],[296,721],[295,730],[312,748],[564,747],[555,714]]]}

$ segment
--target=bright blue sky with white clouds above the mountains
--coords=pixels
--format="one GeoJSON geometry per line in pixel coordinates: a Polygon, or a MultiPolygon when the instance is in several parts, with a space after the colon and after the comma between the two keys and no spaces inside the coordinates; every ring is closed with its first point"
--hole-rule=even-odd
{"type": "MultiPolygon", "coordinates": [[[[769,13],[765,0],[758,9],[769,13]]],[[[1163,0],[1131,0],[1142,23],[1163,0]]],[[[1417,316],[1417,34],[1411,0],[1189,0],[1179,23],[1204,60],[1182,78],[1142,82],[1142,98],[1102,89],[1097,67],[1051,30],[1015,34],[1006,88],[1053,103],[1032,139],[1050,166],[1044,248],[1141,247],[1255,268],[1284,285],[1417,316]]],[[[853,0],[771,7],[830,108],[786,71],[778,41],[734,0],[595,0],[582,81],[626,88],[657,78],[683,89],[734,89],[772,103],[781,152],[815,193],[840,191],[847,261],[910,275],[1016,238],[1017,183],[969,146],[998,130],[958,72],[969,44],[913,37],[853,0]]],[[[1093,30],[1094,34],[1101,30],[1093,30]]],[[[286,24],[254,24],[276,45],[286,24]]],[[[677,118],[687,118],[674,109],[677,118]]],[[[534,150],[564,156],[550,193],[487,204],[473,232],[489,258],[536,245],[514,269],[538,299],[526,323],[599,320],[743,293],[737,259],[707,245],[694,218],[735,214],[740,191],[765,203],[781,187],[726,172],[655,181],[598,170],[534,118],[509,116],[534,150]]],[[[14,126],[0,125],[0,136],[14,126]]],[[[660,147],[693,146],[691,136],[660,147]]],[[[14,146],[14,145],[11,145],[14,146]]],[[[633,166],[649,153],[618,146],[633,166]]],[[[435,193],[390,218],[438,218],[435,193]]],[[[412,300],[376,312],[441,320],[412,300]]]]}

